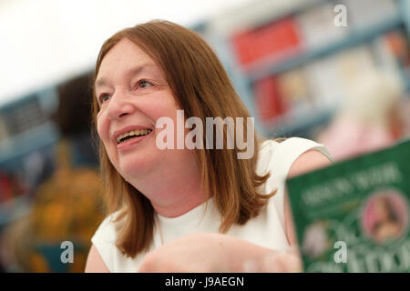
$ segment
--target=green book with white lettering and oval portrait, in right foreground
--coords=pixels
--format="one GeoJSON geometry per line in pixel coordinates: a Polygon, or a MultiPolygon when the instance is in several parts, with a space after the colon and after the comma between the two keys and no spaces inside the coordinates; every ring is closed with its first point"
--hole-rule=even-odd
{"type": "Polygon", "coordinates": [[[286,183],[304,272],[410,272],[410,140],[286,183]]]}

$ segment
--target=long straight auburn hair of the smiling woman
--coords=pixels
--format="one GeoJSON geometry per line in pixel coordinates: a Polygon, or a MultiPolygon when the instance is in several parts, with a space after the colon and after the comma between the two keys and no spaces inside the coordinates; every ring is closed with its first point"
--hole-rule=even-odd
{"type": "MultiPolygon", "coordinates": [[[[247,136],[247,117],[250,114],[210,46],[190,29],[162,20],[123,29],[102,45],[93,82],[95,125],[99,110],[95,91],[99,66],[108,51],[123,38],[138,45],[159,65],[187,118],[197,116],[205,124],[206,117],[231,116],[235,123],[235,117],[243,117],[244,136],[247,136]]],[[[224,134],[226,136],[225,128],[224,134]]],[[[256,134],[253,138],[254,155],[250,159],[238,159],[237,154],[241,150],[236,146],[222,150],[195,149],[202,186],[205,193],[213,196],[222,217],[220,233],[258,216],[261,207],[274,195],[274,192],[268,195],[257,192],[257,187],[265,183],[270,174],[258,176],[256,173],[259,143],[256,134]]],[[[101,175],[106,183],[108,215],[118,211],[116,221],[121,222],[116,244],[126,256],[135,257],[149,250],[155,211],[149,199],[119,175],[100,141],[99,157],[101,175]]]]}

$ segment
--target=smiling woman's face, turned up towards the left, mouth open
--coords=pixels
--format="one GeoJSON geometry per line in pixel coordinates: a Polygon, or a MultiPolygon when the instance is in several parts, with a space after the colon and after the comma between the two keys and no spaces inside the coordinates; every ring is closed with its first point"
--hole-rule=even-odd
{"type": "MultiPolygon", "coordinates": [[[[128,182],[143,183],[149,175],[160,181],[170,166],[192,157],[185,150],[160,150],[156,146],[162,130],[155,128],[156,121],[168,116],[177,125],[179,107],[159,66],[127,38],[102,60],[96,95],[100,105],[98,135],[112,165],[128,182]],[[119,140],[127,133],[134,136],[119,140]]],[[[142,188],[139,190],[149,190],[142,188]]]]}

